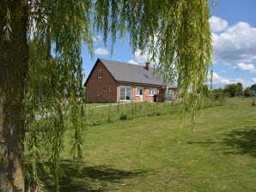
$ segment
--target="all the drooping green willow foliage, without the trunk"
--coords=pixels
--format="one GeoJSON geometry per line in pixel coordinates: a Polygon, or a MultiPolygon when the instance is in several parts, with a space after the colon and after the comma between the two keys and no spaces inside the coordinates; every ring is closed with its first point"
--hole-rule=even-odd
{"type": "MultiPolygon", "coordinates": [[[[74,128],[73,156],[82,158],[85,117],[81,51],[84,43],[93,53],[94,32],[103,33],[104,41],[110,37],[113,44],[117,35],[120,39],[129,36],[133,51],[149,52],[150,60],[165,71],[168,79],[178,81],[181,106],[189,106],[194,112],[198,108],[211,57],[207,0],[24,2],[28,7],[29,45],[24,90],[27,185],[32,189],[40,189],[39,167],[48,162],[53,165],[50,173],[58,191],[67,117],[74,128]]],[[[11,28],[11,21],[7,26],[11,28]]]]}

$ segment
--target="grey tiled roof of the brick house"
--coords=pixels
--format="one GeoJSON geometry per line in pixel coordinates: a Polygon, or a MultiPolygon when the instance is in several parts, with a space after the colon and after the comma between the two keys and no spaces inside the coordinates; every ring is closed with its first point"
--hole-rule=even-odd
{"type": "MultiPolygon", "coordinates": [[[[142,65],[99,59],[113,78],[119,82],[163,86],[164,79],[154,69],[145,69],[142,65]]],[[[88,77],[89,78],[89,77],[88,77]]],[[[173,84],[169,87],[175,87],[173,84]]]]}

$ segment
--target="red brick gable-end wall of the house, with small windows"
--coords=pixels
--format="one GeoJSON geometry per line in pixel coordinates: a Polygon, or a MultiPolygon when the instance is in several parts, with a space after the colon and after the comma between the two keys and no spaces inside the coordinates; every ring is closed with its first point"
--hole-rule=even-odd
{"type": "Polygon", "coordinates": [[[86,85],[87,102],[117,102],[117,83],[107,71],[101,61],[96,63],[86,85]],[[98,70],[101,69],[102,78],[98,79],[98,70]],[[106,87],[106,91],[104,90],[106,87]],[[111,92],[109,92],[111,87],[111,92]]]}

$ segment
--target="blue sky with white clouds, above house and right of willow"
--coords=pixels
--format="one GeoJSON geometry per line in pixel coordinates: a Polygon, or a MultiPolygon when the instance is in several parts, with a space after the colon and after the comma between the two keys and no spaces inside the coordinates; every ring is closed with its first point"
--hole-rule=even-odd
{"type": "MultiPolygon", "coordinates": [[[[243,87],[256,83],[256,0],[218,0],[210,4],[212,35],[213,87],[241,82],[243,87]]],[[[148,57],[140,51],[132,54],[129,39],[117,39],[113,55],[111,44],[105,45],[101,34],[94,39],[94,57],[82,48],[84,81],[98,57],[124,63],[144,64],[148,57]]]]}

